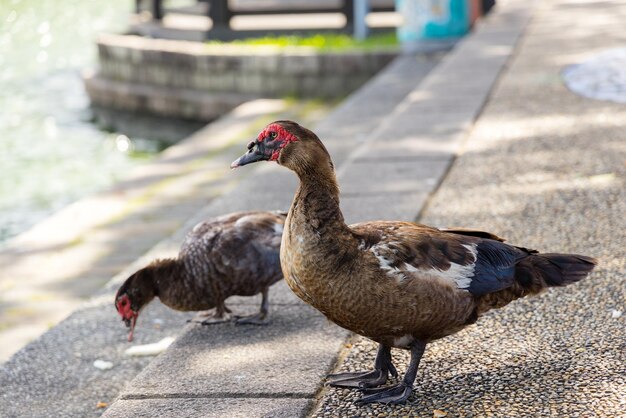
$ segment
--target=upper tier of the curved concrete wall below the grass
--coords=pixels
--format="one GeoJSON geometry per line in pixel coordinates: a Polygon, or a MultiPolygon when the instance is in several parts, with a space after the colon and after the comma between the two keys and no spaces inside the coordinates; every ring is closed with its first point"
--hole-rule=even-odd
{"type": "Polygon", "coordinates": [[[105,34],[98,38],[98,74],[116,82],[175,87],[193,95],[343,98],[397,55],[397,48],[324,52],[105,34]]]}

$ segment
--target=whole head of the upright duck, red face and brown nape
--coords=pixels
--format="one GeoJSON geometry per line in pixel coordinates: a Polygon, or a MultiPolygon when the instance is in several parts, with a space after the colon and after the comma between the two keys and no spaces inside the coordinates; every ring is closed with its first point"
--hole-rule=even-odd
{"type": "Polygon", "coordinates": [[[237,168],[257,161],[276,161],[297,173],[319,166],[333,168],[330,155],[317,135],[288,120],[267,125],[248,144],[248,152],[233,161],[230,167],[237,168]]]}

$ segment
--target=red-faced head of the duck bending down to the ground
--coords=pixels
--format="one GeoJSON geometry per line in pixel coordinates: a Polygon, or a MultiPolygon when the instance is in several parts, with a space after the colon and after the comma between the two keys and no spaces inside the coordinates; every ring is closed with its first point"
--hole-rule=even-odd
{"type": "Polygon", "coordinates": [[[139,311],[154,299],[154,285],[150,267],[131,275],[115,295],[115,309],[129,328],[128,341],[133,340],[139,311]]]}

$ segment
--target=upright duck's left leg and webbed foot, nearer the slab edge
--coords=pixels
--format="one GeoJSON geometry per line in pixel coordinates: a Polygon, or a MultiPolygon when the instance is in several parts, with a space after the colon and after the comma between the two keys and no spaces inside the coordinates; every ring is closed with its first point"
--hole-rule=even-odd
{"type": "Polygon", "coordinates": [[[398,372],[391,363],[391,350],[380,344],[376,355],[375,369],[366,372],[336,373],[327,376],[326,383],[339,388],[364,389],[384,385],[389,373],[397,376],[398,372]]]}

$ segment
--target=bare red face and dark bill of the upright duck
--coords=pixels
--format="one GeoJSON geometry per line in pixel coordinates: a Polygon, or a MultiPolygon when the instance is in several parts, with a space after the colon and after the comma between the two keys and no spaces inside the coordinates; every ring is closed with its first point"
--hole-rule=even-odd
{"type": "Polygon", "coordinates": [[[230,168],[241,167],[257,161],[278,161],[283,148],[298,138],[278,123],[269,124],[248,144],[248,152],[236,159],[230,168]]]}

